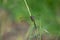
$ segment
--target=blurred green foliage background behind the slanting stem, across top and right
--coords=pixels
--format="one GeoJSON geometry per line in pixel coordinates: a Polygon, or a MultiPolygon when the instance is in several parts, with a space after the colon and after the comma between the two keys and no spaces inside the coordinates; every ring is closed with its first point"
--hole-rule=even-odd
{"type": "MultiPolygon", "coordinates": [[[[22,17],[31,23],[24,0],[7,0],[6,4],[3,1],[0,6],[11,10],[15,21],[19,22],[22,17]]],[[[27,0],[27,3],[37,26],[60,35],[60,0],[27,0]]]]}

